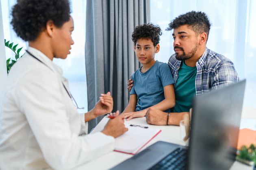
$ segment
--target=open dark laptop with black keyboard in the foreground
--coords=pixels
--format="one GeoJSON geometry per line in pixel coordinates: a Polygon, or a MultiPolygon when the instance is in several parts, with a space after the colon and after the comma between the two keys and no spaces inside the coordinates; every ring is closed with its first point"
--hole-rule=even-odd
{"type": "Polygon", "coordinates": [[[112,170],[228,170],[236,157],[245,82],[193,99],[189,147],[158,141],[112,170]]]}

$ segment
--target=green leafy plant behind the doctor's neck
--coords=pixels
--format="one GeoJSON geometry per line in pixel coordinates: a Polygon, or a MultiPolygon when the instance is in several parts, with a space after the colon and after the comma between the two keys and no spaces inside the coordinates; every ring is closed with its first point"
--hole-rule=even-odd
{"type": "Polygon", "coordinates": [[[15,62],[17,62],[22,56],[20,56],[20,51],[23,47],[17,49],[18,44],[13,46],[13,43],[10,43],[10,41],[6,41],[6,39],[4,39],[4,45],[5,47],[11,49],[11,51],[13,51],[15,53],[15,60],[12,60],[11,58],[6,60],[6,66],[7,66],[7,73],[9,73],[11,67],[13,66],[13,64],[15,62]],[[17,51],[16,51],[17,50],[17,51]]]}

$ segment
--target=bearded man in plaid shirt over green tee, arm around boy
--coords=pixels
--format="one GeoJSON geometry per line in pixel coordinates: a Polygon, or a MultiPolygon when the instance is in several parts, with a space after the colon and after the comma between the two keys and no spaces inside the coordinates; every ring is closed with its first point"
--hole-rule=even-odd
{"type": "MultiPolygon", "coordinates": [[[[154,125],[179,125],[188,114],[194,95],[230,85],[239,77],[228,58],[206,47],[210,22],[205,13],[191,11],[180,15],[166,30],[174,30],[175,54],[171,55],[168,65],[175,81],[176,105],[170,114],[150,108],[146,120],[154,125]]],[[[129,79],[129,90],[132,83],[129,79]]]]}

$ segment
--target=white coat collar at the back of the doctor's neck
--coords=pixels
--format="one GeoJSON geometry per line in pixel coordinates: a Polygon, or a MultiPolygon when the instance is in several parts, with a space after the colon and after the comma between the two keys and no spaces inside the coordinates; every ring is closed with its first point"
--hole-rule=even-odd
{"type": "Polygon", "coordinates": [[[46,64],[46,66],[48,66],[49,68],[51,68],[54,72],[56,72],[57,74],[63,74],[63,70],[57,66],[56,64],[54,64],[54,62],[52,62],[52,60],[50,60],[46,55],[44,55],[41,51],[39,51],[38,49],[35,49],[33,47],[28,47],[27,51],[29,51],[30,53],[32,53],[33,55],[35,55],[35,57],[37,57],[41,62],[43,62],[44,64],[46,64]]]}

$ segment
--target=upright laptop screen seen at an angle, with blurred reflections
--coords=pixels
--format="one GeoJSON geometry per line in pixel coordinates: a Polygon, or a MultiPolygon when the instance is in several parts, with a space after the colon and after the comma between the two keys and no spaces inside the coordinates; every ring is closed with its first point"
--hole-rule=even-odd
{"type": "Polygon", "coordinates": [[[236,157],[245,80],[193,100],[189,169],[226,170],[236,157]]]}

